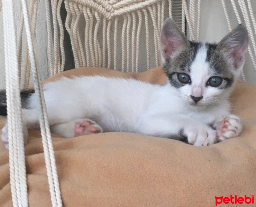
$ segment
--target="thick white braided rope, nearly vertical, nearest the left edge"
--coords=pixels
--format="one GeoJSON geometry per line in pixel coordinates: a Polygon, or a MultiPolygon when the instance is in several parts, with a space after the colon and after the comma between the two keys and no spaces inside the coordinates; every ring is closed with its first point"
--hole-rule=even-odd
{"type": "Polygon", "coordinates": [[[3,0],[4,57],[8,110],[10,185],[13,206],[28,206],[13,2],[3,0]]]}

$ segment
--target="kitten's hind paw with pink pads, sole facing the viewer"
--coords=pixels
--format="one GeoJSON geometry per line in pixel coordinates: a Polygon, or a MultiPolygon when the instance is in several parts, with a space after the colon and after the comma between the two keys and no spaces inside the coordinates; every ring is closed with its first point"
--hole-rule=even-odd
{"type": "Polygon", "coordinates": [[[85,119],[75,125],[75,137],[82,135],[97,134],[103,132],[102,128],[90,119],[85,119]]]}

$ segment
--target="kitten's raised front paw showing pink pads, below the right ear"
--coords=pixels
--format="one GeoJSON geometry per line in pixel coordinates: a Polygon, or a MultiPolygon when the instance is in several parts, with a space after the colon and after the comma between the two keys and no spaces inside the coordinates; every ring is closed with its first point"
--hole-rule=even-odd
{"type": "Polygon", "coordinates": [[[217,130],[219,141],[236,137],[242,131],[241,119],[238,116],[231,114],[220,121],[217,130]]]}

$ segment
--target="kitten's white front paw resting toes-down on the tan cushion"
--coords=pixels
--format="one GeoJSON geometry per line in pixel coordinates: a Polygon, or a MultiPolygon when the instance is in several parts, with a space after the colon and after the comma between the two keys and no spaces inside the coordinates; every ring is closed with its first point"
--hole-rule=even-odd
{"type": "Polygon", "coordinates": [[[216,142],[216,130],[204,124],[191,124],[184,128],[183,134],[188,138],[188,143],[195,146],[207,146],[216,142]]]}

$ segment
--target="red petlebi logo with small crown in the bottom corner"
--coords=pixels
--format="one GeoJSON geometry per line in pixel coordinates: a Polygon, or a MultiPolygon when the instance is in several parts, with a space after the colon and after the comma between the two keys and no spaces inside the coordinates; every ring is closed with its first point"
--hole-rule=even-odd
{"type": "Polygon", "coordinates": [[[218,206],[220,204],[254,204],[254,195],[252,195],[251,197],[247,195],[245,195],[244,197],[239,197],[237,195],[230,195],[229,197],[215,196],[215,206],[218,206]]]}

